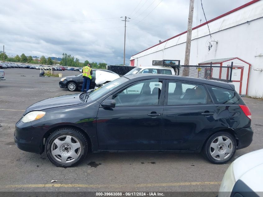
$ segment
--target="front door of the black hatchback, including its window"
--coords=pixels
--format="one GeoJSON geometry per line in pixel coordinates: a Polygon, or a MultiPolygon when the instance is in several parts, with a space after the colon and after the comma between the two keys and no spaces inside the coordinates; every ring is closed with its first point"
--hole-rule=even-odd
{"type": "Polygon", "coordinates": [[[113,95],[115,108],[99,108],[96,127],[101,150],[161,149],[162,86],[158,79],[134,83],[113,95]]]}

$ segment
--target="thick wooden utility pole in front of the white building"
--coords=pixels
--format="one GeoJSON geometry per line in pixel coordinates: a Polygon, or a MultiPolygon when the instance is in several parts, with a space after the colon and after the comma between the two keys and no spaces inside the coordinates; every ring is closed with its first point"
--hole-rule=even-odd
{"type": "MultiPolygon", "coordinates": [[[[189,61],[190,61],[192,25],[193,25],[193,15],[194,15],[194,2],[195,2],[195,0],[190,0],[190,5],[189,5],[189,16],[188,16],[188,26],[187,26],[187,38],[186,38],[185,65],[189,65],[189,61]]],[[[189,76],[189,67],[184,67],[183,76],[189,76]]]]}

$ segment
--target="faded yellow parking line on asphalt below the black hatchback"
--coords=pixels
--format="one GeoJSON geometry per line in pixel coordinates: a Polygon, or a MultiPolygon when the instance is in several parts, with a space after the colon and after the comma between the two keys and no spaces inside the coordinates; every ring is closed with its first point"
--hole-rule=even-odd
{"type": "Polygon", "coordinates": [[[145,183],[131,185],[87,185],[87,184],[29,184],[29,185],[6,185],[5,188],[24,188],[24,187],[153,187],[153,186],[180,186],[180,185],[219,185],[221,182],[181,182],[181,183],[145,183]]]}

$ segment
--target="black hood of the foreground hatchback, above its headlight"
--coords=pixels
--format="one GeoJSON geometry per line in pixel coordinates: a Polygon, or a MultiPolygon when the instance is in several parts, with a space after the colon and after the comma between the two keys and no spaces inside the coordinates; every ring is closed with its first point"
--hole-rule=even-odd
{"type": "Polygon", "coordinates": [[[71,94],[71,95],[64,95],[64,96],[57,96],[54,98],[45,99],[43,101],[37,102],[31,106],[29,106],[24,115],[26,115],[30,111],[36,110],[45,110],[54,107],[62,107],[62,106],[71,106],[77,105],[82,103],[79,100],[80,94],[71,94]]]}

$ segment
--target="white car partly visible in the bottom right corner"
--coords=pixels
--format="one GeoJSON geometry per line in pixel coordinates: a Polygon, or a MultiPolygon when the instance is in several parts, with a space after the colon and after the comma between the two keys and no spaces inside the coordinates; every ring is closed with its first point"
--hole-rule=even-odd
{"type": "Polygon", "coordinates": [[[238,157],[228,167],[218,197],[263,196],[263,149],[238,157]]]}

